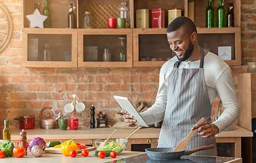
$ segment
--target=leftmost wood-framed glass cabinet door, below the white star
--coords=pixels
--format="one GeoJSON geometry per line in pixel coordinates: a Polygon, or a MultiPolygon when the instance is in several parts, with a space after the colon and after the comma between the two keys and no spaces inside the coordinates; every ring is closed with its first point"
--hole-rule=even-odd
{"type": "Polygon", "coordinates": [[[77,67],[77,30],[38,30],[37,28],[23,29],[23,66],[77,67]]]}

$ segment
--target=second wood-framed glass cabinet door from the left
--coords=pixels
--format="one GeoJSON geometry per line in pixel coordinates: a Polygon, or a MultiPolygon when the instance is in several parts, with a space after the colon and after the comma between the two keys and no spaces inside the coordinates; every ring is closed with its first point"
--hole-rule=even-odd
{"type": "Polygon", "coordinates": [[[81,67],[132,67],[131,29],[79,29],[81,67]]]}

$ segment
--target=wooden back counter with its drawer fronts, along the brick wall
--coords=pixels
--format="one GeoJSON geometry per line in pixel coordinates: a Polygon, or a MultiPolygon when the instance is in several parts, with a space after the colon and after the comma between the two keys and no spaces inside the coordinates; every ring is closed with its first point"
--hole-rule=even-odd
{"type": "MultiPolygon", "coordinates": [[[[79,130],[66,130],[61,131],[59,129],[33,129],[26,130],[27,139],[33,139],[34,137],[42,137],[45,141],[58,140],[65,141],[67,139],[74,139],[77,143],[85,143],[87,145],[94,145],[95,139],[106,139],[114,128],[102,128],[102,129],[79,129],[79,130]]],[[[11,129],[12,141],[20,140],[20,131],[11,129]]],[[[125,138],[130,135],[134,129],[117,129],[112,138],[125,138]]],[[[132,145],[150,144],[151,147],[157,146],[160,129],[156,128],[144,128],[137,131],[129,138],[126,150],[131,151],[132,145]]],[[[241,137],[253,137],[253,132],[238,127],[238,130],[234,131],[222,131],[216,137],[217,143],[234,143],[234,155],[233,157],[241,157],[241,137]]]]}

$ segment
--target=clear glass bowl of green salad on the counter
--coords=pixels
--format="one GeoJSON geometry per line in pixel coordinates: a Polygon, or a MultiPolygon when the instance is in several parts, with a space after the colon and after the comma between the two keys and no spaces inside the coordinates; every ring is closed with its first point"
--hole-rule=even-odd
{"type": "Polygon", "coordinates": [[[121,154],[128,143],[128,140],[125,139],[108,139],[106,143],[104,142],[105,140],[106,139],[97,139],[94,141],[98,151],[103,150],[106,152],[111,150],[116,152],[116,154],[121,154]]]}

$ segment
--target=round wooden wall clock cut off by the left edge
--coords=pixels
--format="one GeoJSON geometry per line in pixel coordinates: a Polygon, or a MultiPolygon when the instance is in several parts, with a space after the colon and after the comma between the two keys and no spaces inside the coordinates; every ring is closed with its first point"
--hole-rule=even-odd
{"type": "Polygon", "coordinates": [[[0,3],[0,52],[5,49],[12,37],[12,18],[8,9],[0,3]]]}

